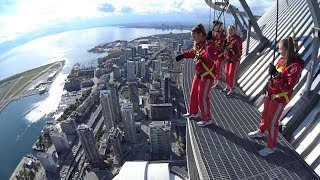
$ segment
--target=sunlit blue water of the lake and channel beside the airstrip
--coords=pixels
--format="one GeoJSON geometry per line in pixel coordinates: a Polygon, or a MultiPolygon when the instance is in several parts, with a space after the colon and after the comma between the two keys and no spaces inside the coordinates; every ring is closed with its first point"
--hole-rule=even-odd
{"type": "Polygon", "coordinates": [[[0,55],[0,79],[51,62],[66,60],[48,93],[22,98],[0,112],[0,180],[9,179],[21,158],[32,153],[31,146],[45,124],[45,114],[59,105],[63,83],[76,62],[91,64],[98,54],[86,52],[93,46],[115,40],[133,40],[180,30],[100,27],[68,31],[32,40],[0,55]]]}

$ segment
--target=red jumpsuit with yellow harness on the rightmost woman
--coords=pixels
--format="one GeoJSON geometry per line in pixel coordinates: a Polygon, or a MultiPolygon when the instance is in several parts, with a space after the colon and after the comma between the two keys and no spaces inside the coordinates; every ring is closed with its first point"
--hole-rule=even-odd
{"type": "Polygon", "coordinates": [[[299,61],[296,54],[291,64],[286,64],[284,59],[280,58],[276,68],[279,73],[268,84],[259,127],[259,131],[262,133],[266,130],[268,131],[268,148],[275,148],[276,146],[279,119],[284,107],[292,97],[294,86],[299,81],[303,64],[299,61]],[[281,95],[283,92],[287,93],[287,97],[281,95]]]}

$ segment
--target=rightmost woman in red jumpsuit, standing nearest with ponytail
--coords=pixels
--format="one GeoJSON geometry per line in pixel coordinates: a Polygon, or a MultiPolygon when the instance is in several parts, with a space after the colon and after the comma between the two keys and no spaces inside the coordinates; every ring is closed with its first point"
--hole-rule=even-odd
{"type": "Polygon", "coordinates": [[[269,65],[270,80],[265,88],[264,109],[261,116],[259,129],[250,132],[250,138],[263,137],[268,131],[267,145],[259,151],[261,156],[267,156],[274,152],[279,131],[279,119],[292,98],[293,88],[299,81],[303,63],[299,54],[294,51],[292,37],[282,39],[279,44],[280,59],[276,66],[269,65]]]}

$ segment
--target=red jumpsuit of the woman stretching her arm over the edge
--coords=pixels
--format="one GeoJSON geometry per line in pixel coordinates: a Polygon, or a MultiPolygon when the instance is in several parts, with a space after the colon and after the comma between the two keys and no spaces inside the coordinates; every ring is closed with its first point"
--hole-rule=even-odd
{"type": "Polygon", "coordinates": [[[194,58],[195,75],[190,92],[190,114],[198,114],[198,107],[201,112],[202,121],[211,119],[209,93],[214,82],[213,73],[206,74],[204,63],[211,69],[214,65],[213,53],[214,46],[212,41],[206,41],[204,44],[196,45],[195,49],[183,53],[184,58],[194,58]]]}

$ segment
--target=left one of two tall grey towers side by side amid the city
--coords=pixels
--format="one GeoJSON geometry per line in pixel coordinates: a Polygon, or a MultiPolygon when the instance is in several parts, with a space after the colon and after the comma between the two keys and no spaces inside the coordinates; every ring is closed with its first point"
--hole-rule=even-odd
{"type": "Polygon", "coordinates": [[[102,115],[104,118],[104,124],[106,126],[106,131],[109,131],[115,126],[114,118],[114,105],[112,103],[112,93],[110,90],[100,91],[100,102],[102,107],[102,115]]]}

